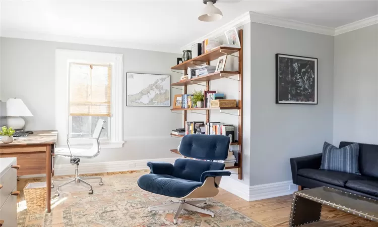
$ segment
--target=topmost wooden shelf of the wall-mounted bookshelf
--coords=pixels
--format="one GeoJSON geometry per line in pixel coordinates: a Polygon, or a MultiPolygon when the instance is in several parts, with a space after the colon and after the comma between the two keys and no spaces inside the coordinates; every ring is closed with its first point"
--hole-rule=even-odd
{"type": "Polygon", "coordinates": [[[220,56],[226,54],[233,54],[240,50],[240,48],[219,46],[207,53],[201,54],[194,59],[187,60],[181,64],[171,67],[173,70],[186,70],[188,67],[196,67],[206,62],[210,62],[218,59],[220,56]]]}

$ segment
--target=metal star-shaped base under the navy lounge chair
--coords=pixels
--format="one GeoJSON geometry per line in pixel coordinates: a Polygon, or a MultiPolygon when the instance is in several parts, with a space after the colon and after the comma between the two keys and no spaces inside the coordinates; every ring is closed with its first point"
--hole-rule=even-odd
{"type": "Polygon", "coordinates": [[[206,199],[179,200],[179,201],[171,199],[169,201],[172,201],[173,203],[148,207],[148,212],[151,212],[153,210],[175,210],[175,209],[177,209],[176,214],[173,217],[173,224],[177,224],[178,215],[180,215],[182,209],[193,210],[193,211],[196,211],[196,212],[209,214],[209,215],[211,215],[211,217],[214,217],[213,212],[210,212],[208,210],[202,209],[199,206],[196,206],[196,204],[199,204],[199,203],[206,203],[206,199]]]}

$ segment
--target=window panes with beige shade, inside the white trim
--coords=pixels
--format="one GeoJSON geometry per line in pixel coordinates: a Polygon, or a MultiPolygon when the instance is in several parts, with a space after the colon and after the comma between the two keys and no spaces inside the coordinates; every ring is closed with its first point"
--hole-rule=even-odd
{"type": "Polygon", "coordinates": [[[88,136],[105,120],[102,140],[110,139],[111,64],[70,63],[70,133],[88,136]]]}

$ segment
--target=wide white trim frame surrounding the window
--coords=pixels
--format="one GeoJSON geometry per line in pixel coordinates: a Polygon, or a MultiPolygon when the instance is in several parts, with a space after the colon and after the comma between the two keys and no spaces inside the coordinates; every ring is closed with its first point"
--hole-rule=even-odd
{"type": "Polygon", "coordinates": [[[58,130],[58,145],[67,146],[67,134],[72,132],[69,116],[70,63],[112,64],[110,138],[101,141],[101,148],[122,147],[123,54],[67,49],[55,50],[55,126],[58,130]]]}

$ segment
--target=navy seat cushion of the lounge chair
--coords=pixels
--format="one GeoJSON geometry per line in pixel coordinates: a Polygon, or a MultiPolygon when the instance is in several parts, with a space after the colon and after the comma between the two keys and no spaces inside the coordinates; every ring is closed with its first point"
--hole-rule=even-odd
{"type": "Polygon", "coordinates": [[[174,198],[184,197],[194,189],[201,187],[202,184],[202,182],[159,174],[146,174],[138,179],[138,186],[141,189],[174,198]]]}

